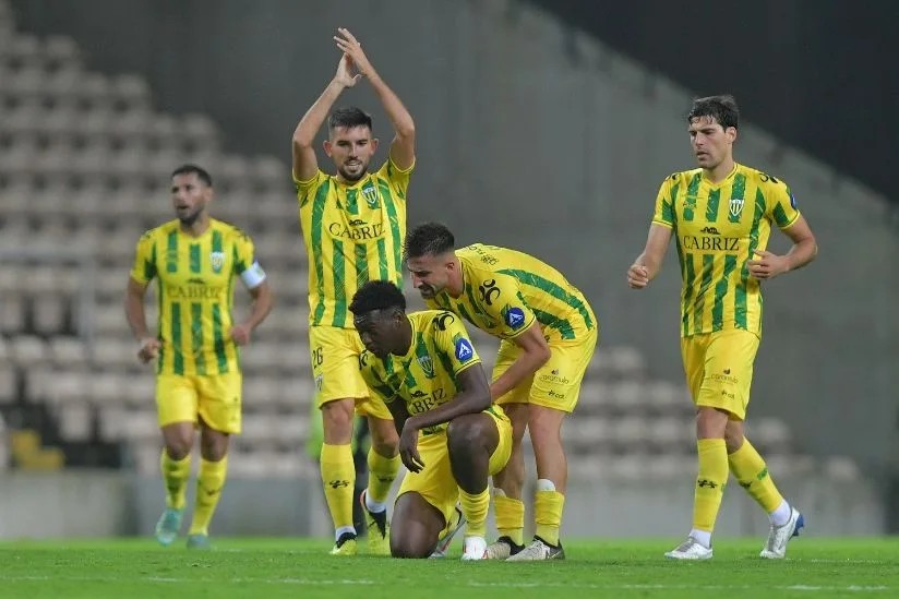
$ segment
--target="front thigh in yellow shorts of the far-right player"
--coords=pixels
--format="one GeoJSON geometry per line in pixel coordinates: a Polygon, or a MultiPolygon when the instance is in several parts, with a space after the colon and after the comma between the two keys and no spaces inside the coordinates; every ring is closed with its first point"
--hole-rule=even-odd
{"type": "Polygon", "coordinates": [[[753,364],[758,337],[747,331],[724,331],[710,335],[705,351],[703,383],[697,406],[726,410],[743,420],[750,403],[753,364]]]}

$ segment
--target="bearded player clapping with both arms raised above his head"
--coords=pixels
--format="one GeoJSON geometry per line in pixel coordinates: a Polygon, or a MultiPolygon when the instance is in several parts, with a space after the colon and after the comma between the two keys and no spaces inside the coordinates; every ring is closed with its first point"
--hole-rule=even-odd
{"type": "Polygon", "coordinates": [[[322,410],[322,483],[335,528],[335,555],[356,554],[352,525],[353,407],[368,416],[372,446],[365,504],[369,552],[389,553],[387,493],[396,478],[398,442],[391,414],[369,399],[359,375],[362,345],[347,311],[349,298],[369,279],[403,283],[401,243],[406,230],[406,190],[415,166],[415,124],[362,46],[347,29],[334,37],[343,52],[337,73],[293,132],[293,180],[309,264],[309,346],[315,403],[322,410]],[[353,71],[356,73],[353,74],[353,71]],[[335,110],[328,119],[325,154],[337,175],[319,169],[313,142],[328,110],[347,87],[365,77],[393,123],[387,160],[375,172],[369,161],[377,149],[371,118],[358,108],[335,110]]]}

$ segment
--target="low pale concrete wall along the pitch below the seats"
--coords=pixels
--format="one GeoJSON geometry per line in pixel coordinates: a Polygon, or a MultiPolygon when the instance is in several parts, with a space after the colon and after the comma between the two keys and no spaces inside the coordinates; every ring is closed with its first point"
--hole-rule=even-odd
{"type": "MultiPolygon", "coordinates": [[[[779,486],[803,510],[808,531],[816,537],[885,531],[877,491],[868,483],[842,484],[811,474],[779,486]]],[[[188,505],[193,505],[192,493],[193,486],[188,505]]],[[[160,479],[124,472],[4,474],[0,475],[0,538],[149,537],[163,508],[163,498],[160,479]]],[[[681,537],[690,527],[692,502],[690,478],[574,480],[566,495],[563,535],[681,537]]],[[[526,513],[529,522],[530,505],[526,513]]],[[[188,526],[185,522],[184,530],[188,526]]],[[[491,530],[492,526],[491,520],[491,530]]],[[[758,506],[739,486],[730,486],[718,517],[718,537],[764,539],[767,527],[767,518],[758,506]]],[[[212,534],[328,538],[331,522],[321,481],[317,477],[229,479],[212,534]]]]}

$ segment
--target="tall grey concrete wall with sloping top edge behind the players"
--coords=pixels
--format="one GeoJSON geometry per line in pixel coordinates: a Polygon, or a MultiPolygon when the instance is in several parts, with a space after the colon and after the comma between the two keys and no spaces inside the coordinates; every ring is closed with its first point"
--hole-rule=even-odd
{"type": "MultiPolygon", "coordinates": [[[[674,251],[642,296],[624,272],[658,184],[693,164],[686,91],[506,0],[13,4],[27,29],[73,35],[91,65],[145,74],[160,108],[212,113],[231,151],[275,153],[285,165],[296,122],[334,72],[331,35],[350,27],[416,118],[410,223],[439,218],[463,243],[547,259],[586,291],[601,343],[638,346],[654,374],[681,380],[674,251]]],[[[340,103],[370,108],[388,136],[359,87],[340,103]]],[[[738,158],[793,187],[820,244],[811,267],[765,286],[752,415],[788,418],[800,451],[849,454],[886,476],[887,456],[899,455],[899,235],[864,188],[752,127],[741,135],[738,158]]]]}

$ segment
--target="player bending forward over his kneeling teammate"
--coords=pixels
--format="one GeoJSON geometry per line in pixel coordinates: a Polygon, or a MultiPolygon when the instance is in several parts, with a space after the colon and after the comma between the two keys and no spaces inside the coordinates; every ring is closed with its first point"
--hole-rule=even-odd
{"type": "Polygon", "coordinates": [[[500,538],[491,559],[563,559],[559,541],[568,468],[562,447],[565,415],[577,404],[594,356],[598,323],[582,292],[559,271],[505,248],[476,243],[455,250],[439,224],[416,227],[406,238],[412,284],[431,308],[450,310],[499,337],[490,395],[513,424],[512,457],[493,477],[500,538]],[[524,547],[525,462],[522,439],[530,431],[537,460],[537,524],[524,547]]]}

